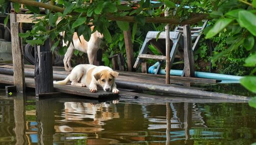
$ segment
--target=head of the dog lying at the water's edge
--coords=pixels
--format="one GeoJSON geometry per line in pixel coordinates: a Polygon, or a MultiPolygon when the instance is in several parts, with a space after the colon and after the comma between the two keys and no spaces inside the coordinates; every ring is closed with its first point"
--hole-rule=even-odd
{"type": "Polygon", "coordinates": [[[112,91],[112,86],[115,82],[115,78],[118,77],[118,74],[119,73],[116,71],[102,70],[94,74],[94,77],[104,91],[112,91]]]}

